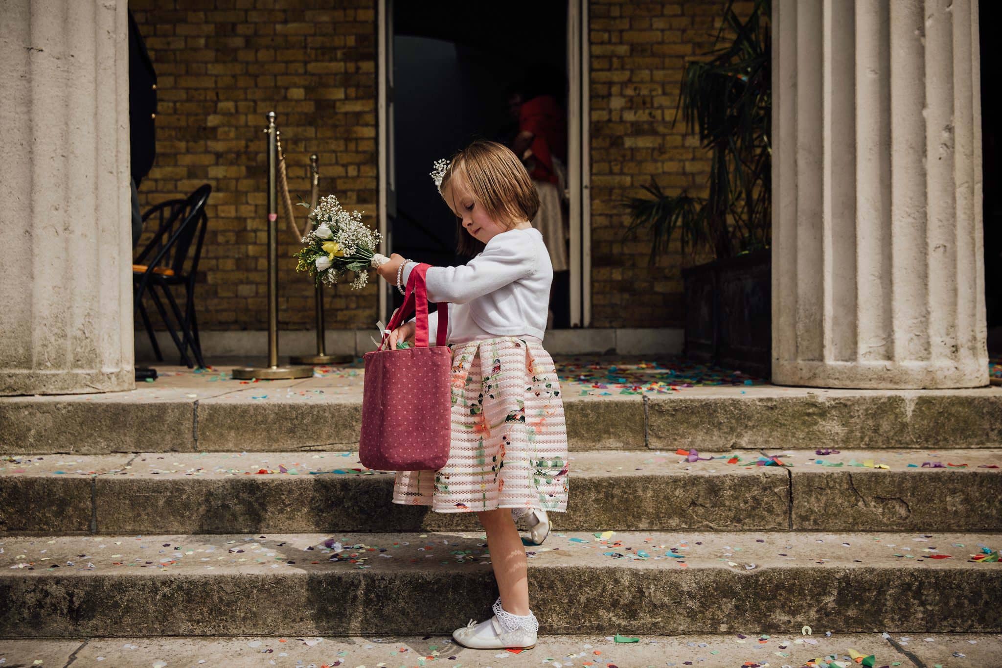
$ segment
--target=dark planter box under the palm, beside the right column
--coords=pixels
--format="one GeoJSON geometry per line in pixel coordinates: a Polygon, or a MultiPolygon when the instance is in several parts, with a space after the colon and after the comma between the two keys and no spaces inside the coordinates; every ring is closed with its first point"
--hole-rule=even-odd
{"type": "Polygon", "coordinates": [[[687,358],[770,377],[772,264],[763,250],[682,269],[687,358]]]}

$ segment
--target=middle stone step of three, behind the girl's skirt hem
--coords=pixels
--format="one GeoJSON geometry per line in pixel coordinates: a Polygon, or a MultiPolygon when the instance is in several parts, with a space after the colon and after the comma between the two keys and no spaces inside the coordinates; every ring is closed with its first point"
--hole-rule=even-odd
{"type": "MultiPolygon", "coordinates": [[[[553,526],[1002,531],[1002,469],[982,468],[1002,466],[1002,450],[818,452],[776,453],[787,466],[759,466],[769,460],[756,451],[695,462],[656,451],[573,453],[568,511],[554,513],[553,526]]],[[[479,528],[471,513],[393,504],[393,481],[353,451],[6,456],[0,534],[479,528]]]]}

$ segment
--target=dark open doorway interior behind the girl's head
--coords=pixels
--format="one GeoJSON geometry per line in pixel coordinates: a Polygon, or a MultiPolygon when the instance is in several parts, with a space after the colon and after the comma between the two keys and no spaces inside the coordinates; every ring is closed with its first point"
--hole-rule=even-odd
{"type": "MultiPolygon", "coordinates": [[[[456,265],[456,222],[430,172],[476,138],[510,145],[518,123],[509,92],[529,85],[567,108],[567,6],[448,0],[393,2],[393,146],[396,211],[393,250],[456,265]]],[[[568,271],[554,273],[553,326],[570,319],[568,271]]],[[[403,296],[396,290],[393,306],[403,296]]]]}

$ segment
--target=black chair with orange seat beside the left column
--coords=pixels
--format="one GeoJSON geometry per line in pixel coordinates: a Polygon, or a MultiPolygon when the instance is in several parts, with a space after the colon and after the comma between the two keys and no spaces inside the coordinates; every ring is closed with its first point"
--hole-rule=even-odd
{"type": "Polygon", "coordinates": [[[188,348],[194,354],[198,366],[205,366],[201,354],[201,342],[198,339],[198,320],[195,317],[194,281],[198,270],[198,258],[205,240],[205,229],[208,226],[205,202],[211,191],[211,186],[206,183],[184,199],[170,199],[147,210],[142,216],[143,223],[154,219],[157,222],[157,229],[132,265],[132,284],[135,287],[134,308],[142,317],[142,323],[146,327],[157,361],[163,362],[163,356],[160,354],[160,347],[156,343],[156,336],[142,302],[142,297],[147,293],[166,324],[174,345],[180,351],[181,364],[189,369],[192,364],[187,356],[188,348]],[[171,292],[171,288],[178,285],[184,288],[183,314],[171,292]],[[173,311],[174,319],[179,325],[180,337],[177,336],[167,309],[157,294],[157,288],[163,293],[173,311]]]}

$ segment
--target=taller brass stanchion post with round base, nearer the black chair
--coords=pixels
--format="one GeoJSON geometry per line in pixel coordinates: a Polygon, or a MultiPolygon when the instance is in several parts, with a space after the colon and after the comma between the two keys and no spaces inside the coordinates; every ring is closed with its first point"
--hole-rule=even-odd
{"type": "Polygon", "coordinates": [[[262,381],[311,378],[312,367],[279,366],[279,207],[276,201],[278,144],[275,112],[268,112],[268,367],[242,367],[233,378],[262,381]]]}

